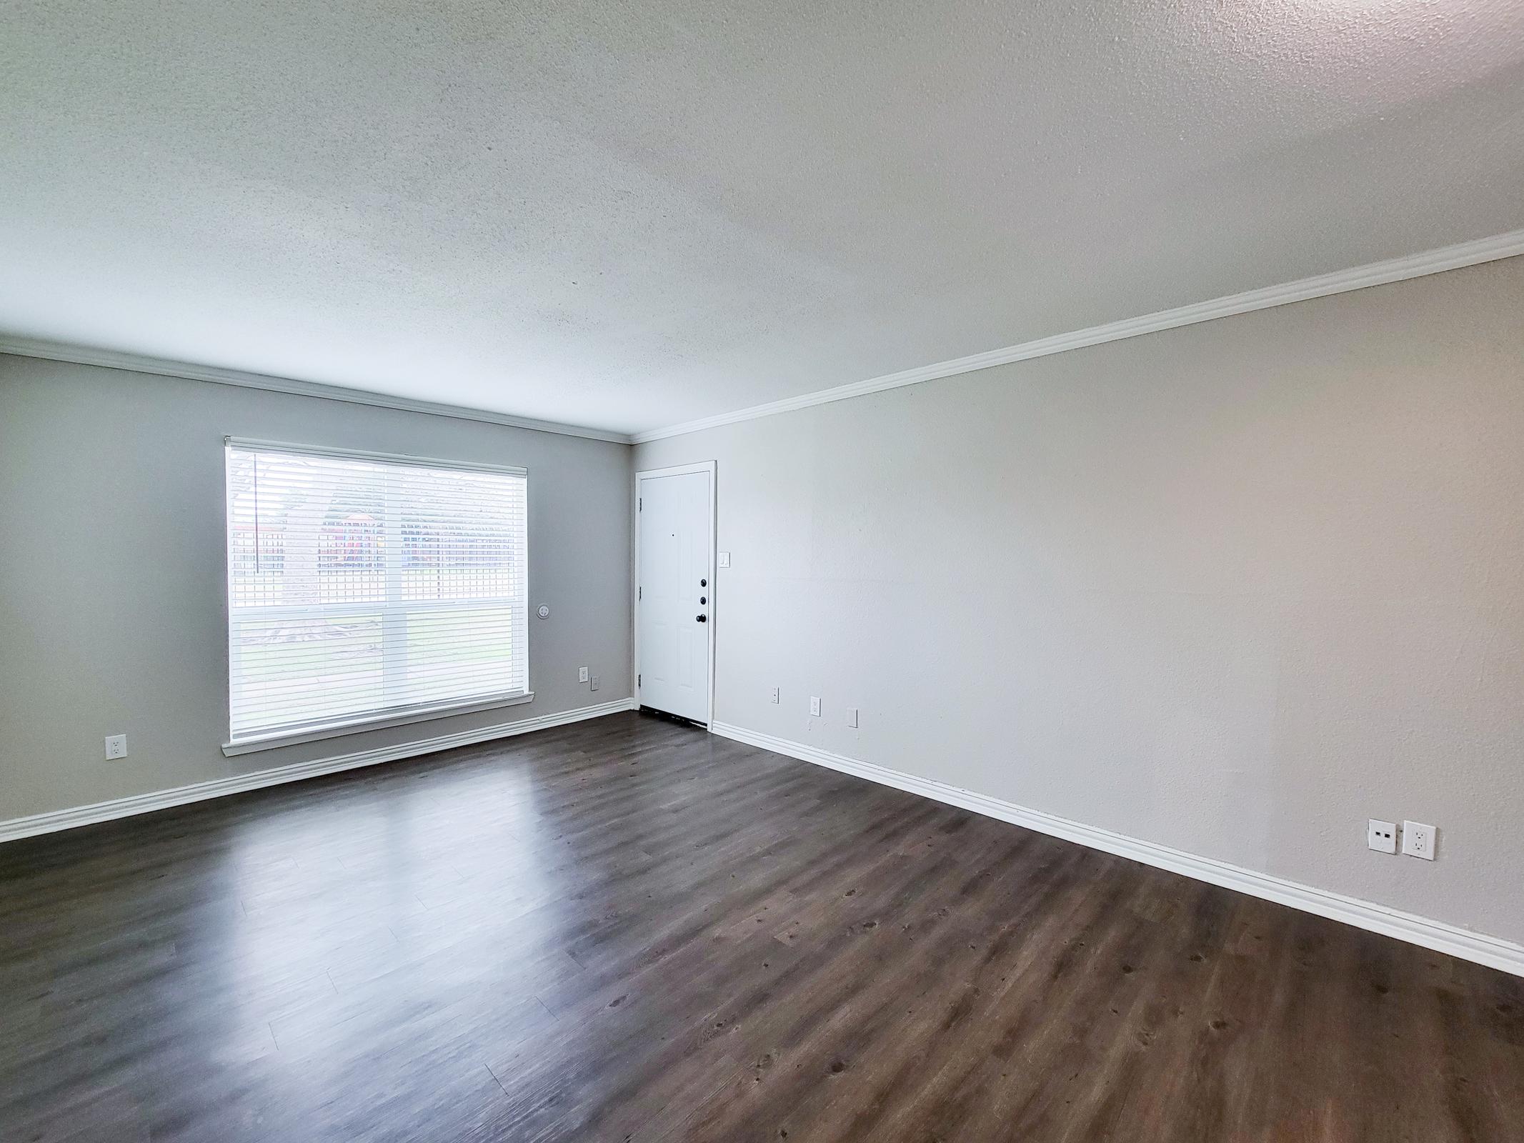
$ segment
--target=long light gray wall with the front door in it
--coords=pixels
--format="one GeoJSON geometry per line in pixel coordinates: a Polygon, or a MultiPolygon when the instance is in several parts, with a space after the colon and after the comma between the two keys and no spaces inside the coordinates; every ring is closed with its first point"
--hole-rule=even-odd
{"type": "Polygon", "coordinates": [[[636,450],[710,459],[719,721],[1524,939],[1524,259],[636,450]]]}

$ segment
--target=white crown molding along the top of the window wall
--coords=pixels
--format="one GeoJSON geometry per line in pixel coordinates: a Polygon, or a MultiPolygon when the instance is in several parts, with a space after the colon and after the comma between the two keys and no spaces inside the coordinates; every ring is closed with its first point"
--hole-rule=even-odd
{"type": "Polygon", "coordinates": [[[37,357],[46,361],[70,361],[78,366],[104,366],[105,369],[126,369],[134,373],[157,373],[158,376],[183,376],[187,381],[210,381],[216,386],[239,386],[241,389],[264,389],[271,393],[293,393],[296,396],[315,396],[323,401],[344,401],[352,405],[375,405],[378,408],[398,408],[404,413],[427,413],[428,416],[450,416],[457,421],[485,421],[489,425],[507,425],[509,428],[530,428],[536,433],[559,433],[561,436],[581,436],[590,440],[613,440],[619,445],[631,443],[628,433],[613,433],[604,428],[584,428],[581,425],[564,425],[555,421],[535,421],[527,416],[512,416],[509,413],[494,413],[486,408],[468,408],[465,405],[447,405],[436,401],[415,401],[408,396],[392,396],[389,393],[373,393],[369,389],[347,389],[344,386],[326,386],[317,381],[297,381],[290,376],[267,376],[264,373],[247,373],[241,369],[223,369],[221,366],[197,366],[189,361],[171,361],[162,357],[143,357],[140,354],[122,354],[114,349],[91,349],[88,346],[73,346],[64,341],[43,341],[30,337],[0,335],[0,354],[17,357],[37,357]]]}

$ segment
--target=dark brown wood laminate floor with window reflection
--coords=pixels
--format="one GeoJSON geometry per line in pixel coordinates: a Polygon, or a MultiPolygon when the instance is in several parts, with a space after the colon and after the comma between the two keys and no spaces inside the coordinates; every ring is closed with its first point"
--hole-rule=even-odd
{"type": "Polygon", "coordinates": [[[5,1140],[1524,1140],[1524,981],[619,715],[0,846],[5,1140]]]}

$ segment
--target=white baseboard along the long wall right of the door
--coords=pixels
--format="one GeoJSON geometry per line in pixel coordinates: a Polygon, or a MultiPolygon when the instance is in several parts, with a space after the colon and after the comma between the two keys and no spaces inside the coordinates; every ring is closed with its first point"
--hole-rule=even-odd
{"type": "Polygon", "coordinates": [[[1330,917],[1332,920],[1343,920],[1344,924],[1355,925],[1356,928],[1381,933],[1382,936],[1431,948],[1436,952],[1446,952],[1452,957],[1472,960],[1478,965],[1486,965],[1489,968],[1501,969],[1503,972],[1512,972],[1513,975],[1524,977],[1524,945],[1515,945],[1510,940],[1472,933],[1465,928],[1457,928],[1455,925],[1448,925],[1442,920],[1431,920],[1428,917],[1414,916],[1413,913],[1402,913],[1394,908],[1387,908],[1385,905],[1372,904],[1370,901],[1349,898],[1341,893],[1330,893],[1324,888],[1301,885],[1295,881],[1271,876],[1269,873],[1259,873],[1253,869],[1230,866],[1225,861],[1196,856],[1195,853],[1186,853],[1180,849],[1160,846],[1154,841],[1141,841],[1125,834],[1114,834],[1109,829],[1097,829],[1096,826],[1087,826],[1081,821],[1071,821],[1055,814],[1044,814],[1038,809],[1027,809],[1012,802],[1003,802],[1001,799],[989,797],[988,794],[978,794],[972,789],[962,789],[959,786],[949,786],[945,782],[934,782],[925,777],[904,774],[898,770],[888,770],[887,767],[879,767],[872,762],[860,762],[858,759],[846,757],[844,754],[832,754],[831,751],[818,750],[817,747],[794,742],[786,738],[764,735],[757,730],[747,730],[745,727],[738,727],[728,722],[712,722],[709,728],[722,738],[732,738],[738,742],[760,747],[762,750],[771,750],[776,754],[786,754],[788,757],[797,757],[802,762],[814,762],[820,767],[840,770],[844,774],[853,774],[856,777],[867,779],[869,782],[895,786],[896,789],[920,794],[922,797],[930,797],[936,802],[945,802],[949,806],[971,809],[975,814],[983,814],[985,817],[994,817],[1001,821],[1010,821],[1017,826],[1026,826],[1027,829],[1035,829],[1039,834],[1052,834],[1053,837],[1061,837],[1065,841],[1076,841],[1082,846],[1090,846],[1091,849],[1100,849],[1106,853],[1116,853],[1117,856],[1131,858],[1132,861],[1141,861],[1146,866],[1167,869],[1172,873],[1183,873],[1184,876],[1207,881],[1213,885],[1234,888],[1239,893],[1248,893],[1250,896],[1274,901],[1280,905],[1300,908],[1306,913],[1317,913],[1318,916],[1330,917]]]}

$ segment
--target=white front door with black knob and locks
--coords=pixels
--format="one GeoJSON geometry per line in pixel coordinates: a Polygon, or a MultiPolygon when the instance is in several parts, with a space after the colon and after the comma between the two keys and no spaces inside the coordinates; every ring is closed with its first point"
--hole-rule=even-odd
{"type": "Polygon", "coordinates": [[[715,472],[637,472],[640,704],[709,722],[715,472]]]}

